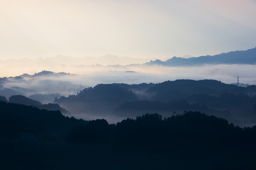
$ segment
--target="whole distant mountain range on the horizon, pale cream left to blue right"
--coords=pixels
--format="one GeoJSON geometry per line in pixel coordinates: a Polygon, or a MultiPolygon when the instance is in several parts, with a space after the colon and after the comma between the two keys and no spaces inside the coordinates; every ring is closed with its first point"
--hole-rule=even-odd
{"type": "Polygon", "coordinates": [[[116,55],[107,54],[102,57],[70,57],[58,55],[50,58],[38,58],[38,59],[8,59],[0,60],[3,66],[13,65],[37,65],[46,67],[61,66],[65,68],[67,66],[89,66],[89,65],[101,65],[101,66],[129,66],[129,65],[164,65],[164,66],[194,66],[201,64],[256,64],[256,48],[246,51],[230,51],[227,53],[221,53],[218,55],[207,55],[200,57],[173,57],[165,59],[142,59],[132,57],[119,57],[116,55]]]}

